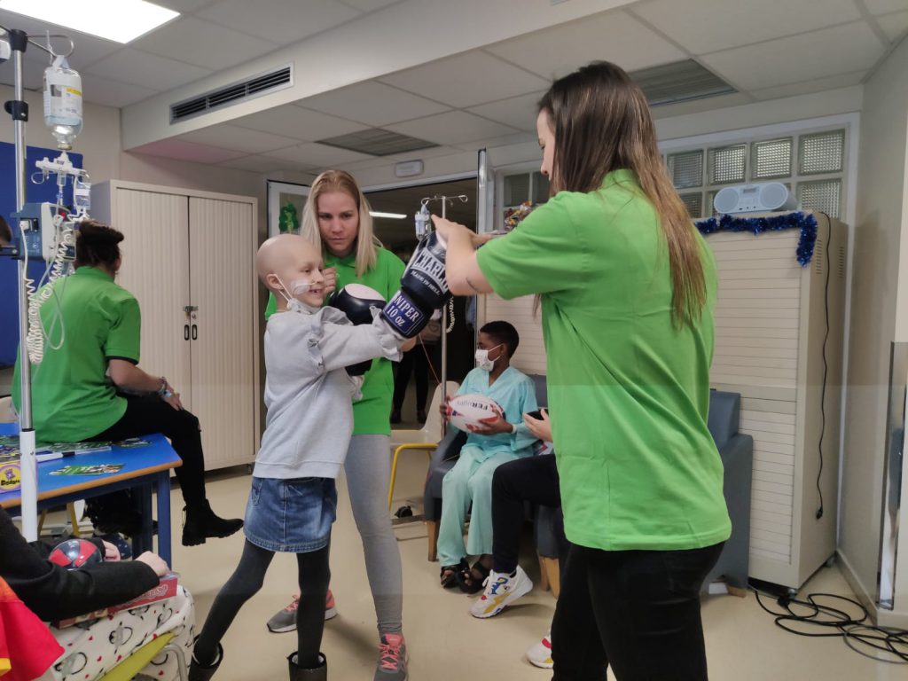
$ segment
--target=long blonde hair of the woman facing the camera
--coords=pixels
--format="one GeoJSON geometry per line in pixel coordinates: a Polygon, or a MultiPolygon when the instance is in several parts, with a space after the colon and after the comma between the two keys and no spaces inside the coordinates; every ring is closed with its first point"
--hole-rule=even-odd
{"type": "Polygon", "coordinates": [[[360,190],[353,176],[346,171],[328,170],[321,173],[309,191],[306,207],[302,209],[302,224],[300,234],[305,239],[314,243],[325,252],[324,242],[319,231],[319,196],[329,192],[344,192],[356,202],[360,212],[360,226],[356,233],[356,276],[361,277],[366,271],[375,267],[375,249],[381,242],[375,237],[372,230],[372,216],[369,214],[371,207],[366,195],[360,190]]]}

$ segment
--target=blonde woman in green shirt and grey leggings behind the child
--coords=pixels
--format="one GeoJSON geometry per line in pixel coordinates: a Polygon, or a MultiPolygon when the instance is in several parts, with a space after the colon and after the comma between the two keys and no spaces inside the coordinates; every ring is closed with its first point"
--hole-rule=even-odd
{"type": "MultiPolygon", "coordinates": [[[[321,247],[325,281],[331,290],[360,283],[390,300],[400,289],[404,264],[381,247],[372,232],[370,206],[350,173],[330,170],[312,183],[302,212],[301,235],[321,247]]],[[[265,314],[274,311],[269,301],[265,314]]],[[[401,350],[410,350],[408,341],[401,350]]],[[[366,572],[379,629],[379,660],[375,678],[405,681],[407,646],[402,629],[403,575],[400,549],[388,515],[390,483],[390,411],[394,380],[389,360],[372,360],[362,384],[362,400],[353,403],[353,436],[344,461],[350,507],[360,530],[366,572]]],[[[328,592],[325,618],[336,614],[328,592]]],[[[272,632],[296,629],[299,597],[268,621],[272,632]]]]}

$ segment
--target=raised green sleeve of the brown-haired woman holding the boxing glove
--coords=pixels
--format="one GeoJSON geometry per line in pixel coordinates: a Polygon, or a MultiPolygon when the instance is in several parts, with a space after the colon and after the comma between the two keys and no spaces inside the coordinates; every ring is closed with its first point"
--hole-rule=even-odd
{"type": "Polygon", "coordinates": [[[477,252],[479,269],[504,299],[565,291],[582,285],[589,253],[568,211],[572,194],[561,192],[518,227],[477,252]]]}

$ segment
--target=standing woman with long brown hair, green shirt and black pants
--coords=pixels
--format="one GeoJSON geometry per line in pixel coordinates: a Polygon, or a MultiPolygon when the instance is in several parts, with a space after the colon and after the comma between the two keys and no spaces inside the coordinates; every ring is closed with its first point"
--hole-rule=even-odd
{"type": "Polygon", "coordinates": [[[706,679],[699,591],[731,531],[706,428],[716,266],[615,64],[558,79],[537,121],[552,196],[483,241],[435,218],[451,291],[536,294],[565,531],[557,681],[706,679]]]}

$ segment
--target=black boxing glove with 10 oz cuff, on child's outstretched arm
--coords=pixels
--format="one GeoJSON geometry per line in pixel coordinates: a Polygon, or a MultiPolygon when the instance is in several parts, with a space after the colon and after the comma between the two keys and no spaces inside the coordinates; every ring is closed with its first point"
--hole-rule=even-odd
{"type": "Polygon", "coordinates": [[[400,277],[400,290],[382,308],[381,318],[403,338],[413,338],[429,323],[432,312],[449,301],[445,278],[446,244],[429,232],[413,252],[400,277]]]}

